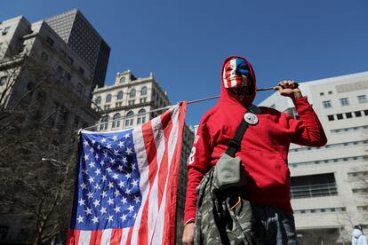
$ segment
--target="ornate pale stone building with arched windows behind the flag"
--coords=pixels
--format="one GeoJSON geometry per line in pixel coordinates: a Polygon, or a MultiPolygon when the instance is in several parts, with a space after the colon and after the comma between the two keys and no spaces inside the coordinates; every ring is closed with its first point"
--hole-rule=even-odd
{"type": "MultiPolygon", "coordinates": [[[[144,78],[135,77],[130,70],[117,73],[114,85],[97,88],[92,93],[93,107],[104,115],[100,119],[98,131],[132,128],[164,112],[154,111],[155,109],[171,105],[166,91],[156,82],[152,73],[144,78]]],[[[184,125],[177,191],[177,244],[181,243],[184,228],[184,203],[188,182],[186,166],[193,140],[193,130],[184,125]]]]}

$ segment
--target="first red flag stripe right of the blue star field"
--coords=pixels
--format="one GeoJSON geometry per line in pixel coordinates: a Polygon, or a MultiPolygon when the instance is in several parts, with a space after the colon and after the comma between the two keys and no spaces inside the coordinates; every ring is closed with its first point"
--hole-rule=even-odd
{"type": "MultiPolygon", "coordinates": [[[[143,206],[142,215],[140,217],[140,230],[138,232],[138,237],[140,238],[139,244],[148,244],[148,202],[149,202],[149,194],[151,193],[152,184],[154,182],[157,172],[157,161],[156,161],[157,151],[151,122],[142,125],[142,135],[144,146],[146,148],[147,161],[149,166],[148,170],[149,190],[146,202],[144,203],[143,206]]],[[[130,240],[131,239],[129,239],[129,241],[130,240]]]]}

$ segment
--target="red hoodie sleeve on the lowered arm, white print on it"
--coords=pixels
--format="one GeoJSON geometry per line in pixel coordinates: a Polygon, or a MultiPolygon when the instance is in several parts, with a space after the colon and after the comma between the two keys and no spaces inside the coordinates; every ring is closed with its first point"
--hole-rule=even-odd
{"type": "Polygon", "coordinates": [[[211,138],[205,123],[200,123],[192,152],[188,157],[188,185],[184,210],[184,224],[196,219],[196,186],[211,165],[211,138]]]}

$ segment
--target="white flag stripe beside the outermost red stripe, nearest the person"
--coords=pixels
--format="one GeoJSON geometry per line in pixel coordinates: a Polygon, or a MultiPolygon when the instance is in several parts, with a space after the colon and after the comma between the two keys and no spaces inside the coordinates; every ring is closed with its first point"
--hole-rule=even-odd
{"type": "MultiPolygon", "coordinates": [[[[170,132],[168,141],[168,161],[169,161],[168,170],[171,169],[172,157],[175,152],[176,144],[178,143],[178,135],[179,135],[179,108],[175,108],[175,110],[172,111],[172,131],[170,132]]],[[[167,183],[172,174],[173,173],[168,172],[167,178],[165,179],[163,200],[161,202],[161,207],[158,213],[156,222],[156,231],[152,240],[152,244],[164,244],[163,236],[164,236],[164,221],[166,219],[164,216],[166,214],[165,208],[166,208],[167,183]]],[[[174,221],[175,219],[170,220],[170,222],[174,221]]]]}

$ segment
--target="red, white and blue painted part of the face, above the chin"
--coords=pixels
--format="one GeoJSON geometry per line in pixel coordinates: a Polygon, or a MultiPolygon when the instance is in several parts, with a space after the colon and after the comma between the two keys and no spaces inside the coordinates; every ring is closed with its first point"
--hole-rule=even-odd
{"type": "Polygon", "coordinates": [[[251,87],[251,73],[244,59],[233,58],[228,60],[222,71],[222,80],[225,88],[251,87]]]}

